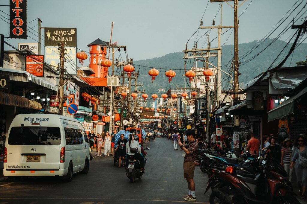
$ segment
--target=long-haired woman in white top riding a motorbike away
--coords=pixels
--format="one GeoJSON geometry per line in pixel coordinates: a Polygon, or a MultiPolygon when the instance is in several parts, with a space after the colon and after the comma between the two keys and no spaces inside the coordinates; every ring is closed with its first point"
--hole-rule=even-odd
{"type": "MultiPolygon", "coordinates": [[[[144,170],[144,157],[141,155],[141,146],[138,143],[138,136],[134,137],[132,134],[129,135],[129,142],[126,143],[127,158],[133,156],[140,162],[141,171],[144,170]]],[[[129,160],[126,159],[126,167],[128,166],[129,160]]]]}

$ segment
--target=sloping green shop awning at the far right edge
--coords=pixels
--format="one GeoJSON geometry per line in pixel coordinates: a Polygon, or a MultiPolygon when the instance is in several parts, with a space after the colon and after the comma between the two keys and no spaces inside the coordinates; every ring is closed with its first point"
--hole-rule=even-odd
{"type": "Polygon", "coordinates": [[[297,95],[291,97],[290,99],[286,100],[282,104],[279,104],[277,107],[273,108],[268,112],[268,122],[272,120],[279,119],[281,117],[284,117],[286,115],[289,115],[294,112],[294,100],[301,97],[307,92],[307,87],[301,92],[299,92],[297,95]]]}

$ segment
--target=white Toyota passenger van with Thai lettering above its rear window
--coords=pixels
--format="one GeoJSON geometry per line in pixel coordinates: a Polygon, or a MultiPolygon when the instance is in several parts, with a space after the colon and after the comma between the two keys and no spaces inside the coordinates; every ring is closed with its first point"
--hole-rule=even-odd
{"type": "Polygon", "coordinates": [[[4,149],[4,176],[64,176],[89,170],[89,144],[76,119],[53,114],[16,115],[4,149]]]}

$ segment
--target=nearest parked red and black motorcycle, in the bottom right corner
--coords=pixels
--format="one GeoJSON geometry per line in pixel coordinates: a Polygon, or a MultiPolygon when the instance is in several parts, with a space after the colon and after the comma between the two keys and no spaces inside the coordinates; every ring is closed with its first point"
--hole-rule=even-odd
{"type": "Polygon", "coordinates": [[[268,159],[251,161],[255,174],[244,173],[233,166],[213,168],[205,193],[211,188],[210,204],[300,203],[288,179],[275,172],[268,159]]]}

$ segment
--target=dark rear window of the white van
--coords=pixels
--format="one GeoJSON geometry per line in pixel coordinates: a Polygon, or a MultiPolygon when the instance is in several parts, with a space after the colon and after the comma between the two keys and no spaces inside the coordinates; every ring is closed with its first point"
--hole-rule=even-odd
{"type": "Polygon", "coordinates": [[[60,145],[59,127],[12,127],[9,145],[60,145]]]}

